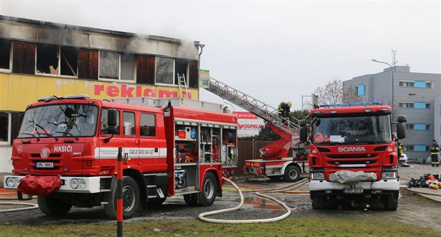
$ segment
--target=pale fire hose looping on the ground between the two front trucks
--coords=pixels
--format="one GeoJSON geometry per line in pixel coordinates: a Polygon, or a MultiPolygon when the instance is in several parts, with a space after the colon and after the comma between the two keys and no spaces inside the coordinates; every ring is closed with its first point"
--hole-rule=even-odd
{"type": "Polygon", "coordinates": [[[278,222],[278,221],[280,221],[282,219],[285,219],[286,217],[288,217],[291,214],[290,208],[288,207],[288,205],[286,205],[282,201],[279,201],[279,200],[277,200],[276,198],[274,198],[272,196],[267,196],[265,194],[262,194],[262,192],[270,193],[270,192],[286,191],[286,190],[289,190],[289,189],[296,189],[297,187],[300,187],[305,182],[307,182],[307,180],[302,180],[302,181],[299,181],[299,182],[295,182],[294,184],[288,184],[288,185],[286,185],[284,187],[280,187],[280,188],[262,189],[262,190],[256,191],[256,193],[255,193],[256,195],[262,196],[263,198],[267,198],[267,199],[269,199],[271,201],[274,201],[275,203],[281,205],[281,207],[286,210],[286,213],[281,215],[281,216],[279,216],[279,217],[268,218],[268,219],[211,219],[211,218],[208,218],[206,216],[239,210],[244,205],[244,194],[242,194],[242,191],[239,189],[239,187],[237,187],[237,185],[234,182],[232,182],[231,180],[228,180],[225,177],[223,177],[223,180],[225,180],[226,182],[229,182],[230,184],[232,184],[232,186],[235,187],[235,189],[239,192],[239,196],[240,196],[240,203],[239,203],[239,205],[237,205],[235,208],[226,208],[226,209],[222,209],[222,210],[215,210],[215,211],[211,211],[211,212],[201,213],[199,215],[199,219],[200,220],[202,220],[204,222],[225,223],[225,224],[278,222]]]}

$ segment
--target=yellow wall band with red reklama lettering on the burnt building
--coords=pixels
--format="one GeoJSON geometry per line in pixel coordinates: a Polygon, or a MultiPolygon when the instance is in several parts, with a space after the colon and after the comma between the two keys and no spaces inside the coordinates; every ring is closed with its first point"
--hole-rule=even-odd
{"type": "MultiPolygon", "coordinates": [[[[0,111],[25,111],[28,104],[51,95],[89,95],[96,99],[119,97],[179,97],[176,86],[145,86],[133,83],[65,79],[50,76],[0,73],[0,111]]],[[[189,98],[199,100],[197,89],[189,98]]]]}

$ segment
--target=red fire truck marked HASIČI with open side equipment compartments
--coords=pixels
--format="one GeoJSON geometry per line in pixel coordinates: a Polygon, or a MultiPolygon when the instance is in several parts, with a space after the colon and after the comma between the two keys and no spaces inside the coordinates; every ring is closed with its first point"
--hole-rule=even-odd
{"type": "MultiPolygon", "coordinates": [[[[237,118],[201,109],[124,104],[87,95],[29,104],[4,187],[38,195],[46,215],[104,205],[116,219],[116,164],[123,150],[123,217],[183,195],[208,206],[236,166],[237,118]]],[[[28,194],[23,196],[22,194],[28,194]]]]}

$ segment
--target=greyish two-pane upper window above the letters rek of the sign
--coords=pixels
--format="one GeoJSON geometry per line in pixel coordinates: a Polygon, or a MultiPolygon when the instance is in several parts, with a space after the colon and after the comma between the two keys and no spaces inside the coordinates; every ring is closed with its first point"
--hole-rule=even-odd
{"type": "Polygon", "coordinates": [[[134,55],[99,51],[99,78],[134,81],[134,55]]]}

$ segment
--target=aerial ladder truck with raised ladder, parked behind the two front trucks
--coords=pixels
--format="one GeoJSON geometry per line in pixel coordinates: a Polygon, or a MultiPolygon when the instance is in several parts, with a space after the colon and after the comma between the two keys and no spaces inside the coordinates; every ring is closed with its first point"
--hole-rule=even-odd
{"type": "Polygon", "coordinates": [[[270,180],[284,180],[296,182],[304,170],[303,157],[307,157],[307,151],[297,152],[296,157],[287,157],[290,149],[299,144],[299,120],[290,116],[290,119],[281,118],[278,109],[264,102],[246,95],[231,86],[209,77],[209,87],[205,88],[211,93],[218,95],[224,100],[250,111],[255,116],[262,118],[267,127],[281,136],[279,140],[260,148],[260,158],[246,160],[244,173],[268,177],[270,180]]]}

